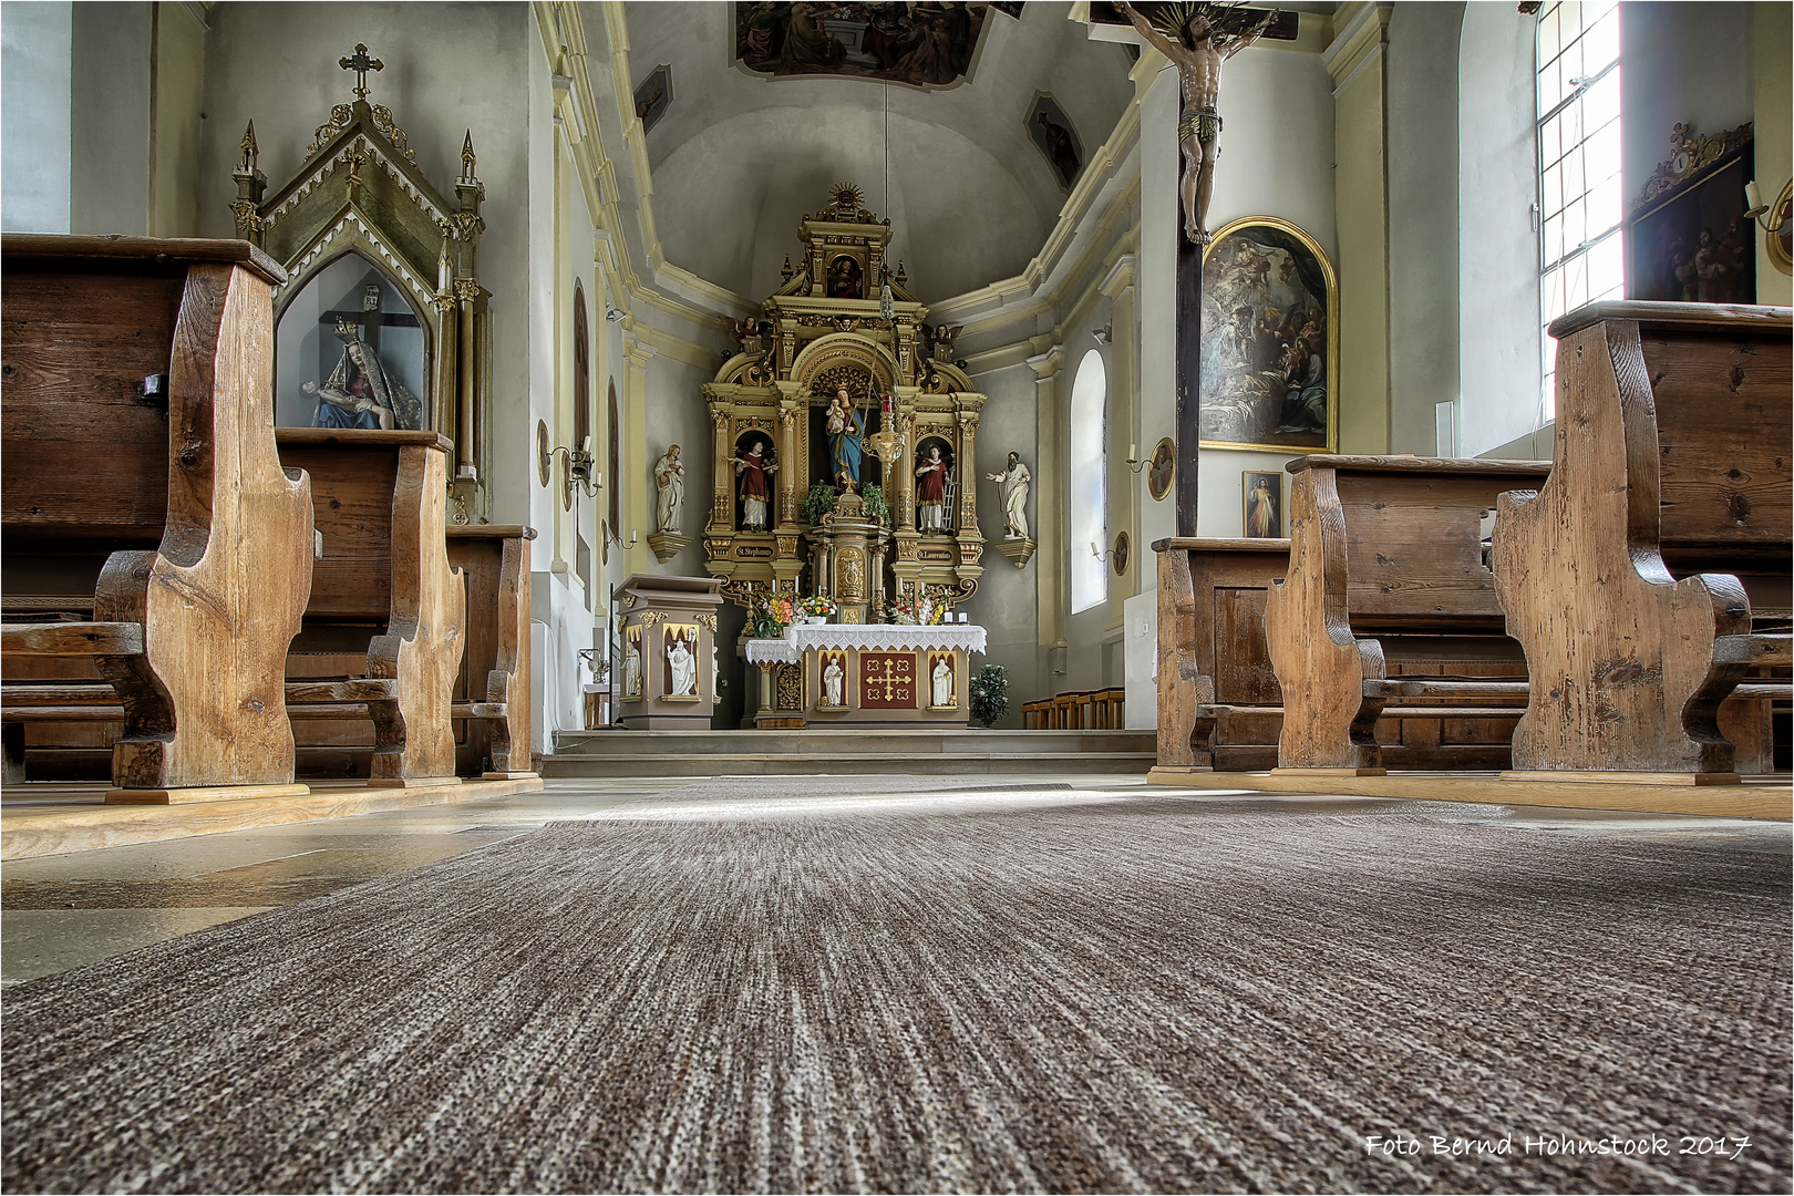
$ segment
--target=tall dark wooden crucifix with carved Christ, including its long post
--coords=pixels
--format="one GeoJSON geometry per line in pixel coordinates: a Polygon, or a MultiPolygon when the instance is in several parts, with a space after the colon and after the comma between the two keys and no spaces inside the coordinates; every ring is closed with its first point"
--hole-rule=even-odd
{"type": "Polygon", "coordinates": [[[1093,4],[1098,23],[1130,23],[1146,45],[1177,66],[1182,115],[1177,122],[1184,174],[1177,237],[1177,534],[1197,534],[1197,446],[1202,441],[1202,258],[1209,244],[1209,195],[1220,158],[1222,65],[1259,38],[1293,41],[1295,13],[1238,4],[1155,4],[1148,20],[1128,0],[1093,4]],[[1107,9],[1098,13],[1098,9],[1107,9]],[[1114,13],[1114,16],[1109,16],[1114,13]]]}

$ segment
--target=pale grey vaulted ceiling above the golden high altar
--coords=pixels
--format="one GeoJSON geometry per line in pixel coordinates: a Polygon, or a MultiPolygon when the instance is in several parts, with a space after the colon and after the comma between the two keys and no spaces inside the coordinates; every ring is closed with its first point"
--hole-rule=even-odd
{"type": "Polygon", "coordinates": [[[736,61],[734,9],[635,2],[624,16],[631,84],[662,63],[673,72],[673,102],[648,133],[666,256],[746,298],[779,287],[797,222],[832,183],[858,183],[890,217],[893,256],[924,301],[1021,273],[1066,201],[1026,127],[1037,95],[1071,118],[1085,160],[1132,95],[1127,50],[1091,41],[1069,4],[992,9],[969,75],[933,90],[757,75],[736,61]]]}

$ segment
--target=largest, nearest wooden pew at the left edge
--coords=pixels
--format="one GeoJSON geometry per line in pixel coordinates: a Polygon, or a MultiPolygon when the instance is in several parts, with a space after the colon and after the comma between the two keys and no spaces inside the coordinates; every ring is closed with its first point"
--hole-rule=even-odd
{"type": "Polygon", "coordinates": [[[25,721],[66,724],[77,690],[122,724],[109,802],[309,791],[282,690],[312,567],[309,482],[273,443],[282,282],[239,240],[0,240],[5,611],[59,617],[0,631],[7,780],[25,721]]]}

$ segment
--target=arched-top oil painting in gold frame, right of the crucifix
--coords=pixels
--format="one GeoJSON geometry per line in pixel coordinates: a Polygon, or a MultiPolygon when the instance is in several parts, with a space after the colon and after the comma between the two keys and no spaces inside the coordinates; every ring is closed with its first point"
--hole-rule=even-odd
{"type": "Polygon", "coordinates": [[[1252,215],[1202,255],[1204,448],[1338,445],[1338,278],[1313,237],[1252,215]]]}

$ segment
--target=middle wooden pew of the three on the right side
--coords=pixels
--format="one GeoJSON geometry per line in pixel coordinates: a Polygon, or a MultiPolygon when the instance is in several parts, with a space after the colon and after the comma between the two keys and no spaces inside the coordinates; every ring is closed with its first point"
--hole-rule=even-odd
{"type": "Polygon", "coordinates": [[[1482,520],[1548,466],[1311,455],[1288,470],[1290,567],[1265,602],[1285,699],[1277,767],[1381,773],[1387,712],[1484,726],[1516,717],[1525,662],[1503,629],[1482,520]],[[1390,678],[1401,656],[1459,658],[1464,671],[1390,678]]]}

